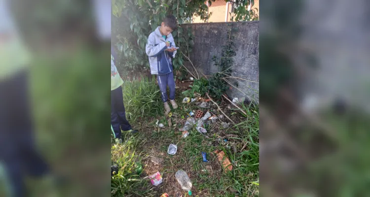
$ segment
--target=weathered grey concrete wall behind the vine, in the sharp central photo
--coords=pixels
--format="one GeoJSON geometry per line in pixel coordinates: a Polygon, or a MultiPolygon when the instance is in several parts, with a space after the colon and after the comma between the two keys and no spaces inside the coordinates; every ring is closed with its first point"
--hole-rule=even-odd
{"type": "Polygon", "coordinates": [[[245,80],[238,80],[238,89],[241,91],[233,88],[227,94],[231,98],[259,101],[259,21],[182,25],[183,28],[190,27],[194,34],[195,45],[190,60],[198,72],[205,75],[218,72],[219,68],[214,66],[212,58],[221,57],[222,46],[227,40],[228,25],[238,29],[233,33],[237,51],[232,75],[245,80]]]}

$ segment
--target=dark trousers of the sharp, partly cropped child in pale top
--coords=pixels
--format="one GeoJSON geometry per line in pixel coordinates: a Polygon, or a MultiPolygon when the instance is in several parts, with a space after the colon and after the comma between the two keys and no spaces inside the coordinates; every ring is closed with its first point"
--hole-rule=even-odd
{"type": "Polygon", "coordinates": [[[111,126],[115,138],[121,138],[121,129],[130,131],[131,125],[126,119],[125,105],[123,104],[122,87],[111,91],[111,126]]]}

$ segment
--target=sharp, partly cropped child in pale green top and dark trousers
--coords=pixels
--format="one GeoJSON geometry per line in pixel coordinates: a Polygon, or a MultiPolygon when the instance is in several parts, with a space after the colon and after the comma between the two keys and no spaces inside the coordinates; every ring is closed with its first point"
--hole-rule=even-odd
{"type": "Polygon", "coordinates": [[[132,133],[136,133],[138,131],[132,130],[130,123],[128,123],[126,119],[121,87],[123,80],[119,76],[117,68],[115,67],[115,57],[113,46],[111,46],[111,129],[115,137],[115,142],[122,143],[121,129],[123,131],[131,131],[132,133]]]}

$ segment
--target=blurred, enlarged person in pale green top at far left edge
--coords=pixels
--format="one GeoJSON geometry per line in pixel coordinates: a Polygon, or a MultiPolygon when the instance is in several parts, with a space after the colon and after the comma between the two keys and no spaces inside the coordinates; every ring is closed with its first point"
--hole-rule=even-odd
{"type": "Polygon", "coordinates": [[[34,144],[27,67],[30,57],[7,3],[0,0],[0,164],[5,169],[0,180],[5,178],[9,183],[8,195],[24,197],[25,176],[40,177],[49,168],[34,144]]]}

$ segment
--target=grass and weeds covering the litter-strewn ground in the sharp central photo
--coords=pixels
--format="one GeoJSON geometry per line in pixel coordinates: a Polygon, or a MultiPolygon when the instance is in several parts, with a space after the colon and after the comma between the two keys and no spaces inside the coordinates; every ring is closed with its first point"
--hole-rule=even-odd
{"type": "MultiPolygon", "coordinates": [[[[112,196],[149,197],[160,196],[165,192],[170,196],[176,196],[179,192],[185,195],[174,175],[179,169],[188,173],[193,183],[192,192],[195,197],[258,196],[258,106],[253,103],[242,105],[241,108],[246,114],[241,113],[240,110],[228,110],[226,113],[231,114],[230,116],[238,124],[232,128],[223,129],[221,120],[210,123],[207,132],[209,138],[200,134],[195,128],[189,131],[189,136],[182,138],[182,133],[176,128],[181,128],[184,125],[189,108],[195,109],[196,107],[187,103],[178,103],[179,108],[173,110],[172,117],[172,122],[177,126],[158,129],[155,125],[156,120],[166,125],[166,117],[159,110],[162,102],[160,95],[156,93],[157,90],[154,82],[149,82],[144,78],[140,82],[125,83],[124,94],[127,95],[124,95],[124,98],[125,104],[128,103],[127,112],[131,113],[131,123],[135,125],[132,120],[136,120],[138,117],[142,117],[146,121],[140,122],[140,132],[136,136],[127,134],[125,143],[112,147],[112,161],[120,166],[119,174],[114,176],[111,181],[112,196]],[[141,92],[143,90],[148,90],[147,94],[152,95],[152,98],[141,99],[140,102],[131,101],[133,98],[130,97],[141,98],[144,94],[141,92]],[[134,107],[139,107],[140,110],[135,111],[134,107]],[[227,139],[227,142],[224,142],[223,139],[227,139]],[[170,143],[178,146],[178,152],[174,156],[166,153],[170,143]],[[217,157],[212,154],[216,150],[225,152],[233,165],[232,171],[224,173],[217,157]],[[201,152],[207,153],[209,163],[202,161],[201,152]],[[154,165],[149,159],[152,156],[162,158],[163,163],[154,165]],[[134,166],[137,162],[143,164],[143,174],[140,176],[135,173],[134,166]],[[162,174],[164,180],[160,186],[154,187],[146,176],[156,171],[162,174]]],[[[181,94],[177,93],[177,95],[181,94]]]]}

